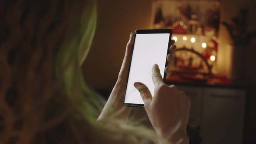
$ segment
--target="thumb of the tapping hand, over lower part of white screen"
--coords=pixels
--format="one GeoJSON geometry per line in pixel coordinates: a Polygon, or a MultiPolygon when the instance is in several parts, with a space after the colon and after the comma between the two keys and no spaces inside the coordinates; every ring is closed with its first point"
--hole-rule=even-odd
{"type": "Polygon", "coordinates": [[[141,82],[134,83],[135,88],[140,92],[145,108],[151,104],[152,95],[148,87],[141,82]]]}

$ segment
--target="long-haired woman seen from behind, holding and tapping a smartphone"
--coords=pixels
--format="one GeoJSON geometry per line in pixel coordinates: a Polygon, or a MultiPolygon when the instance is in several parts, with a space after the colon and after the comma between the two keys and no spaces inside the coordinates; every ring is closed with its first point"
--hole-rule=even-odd
{"type": "Polygon", "coordinates": [[[125,124],[131,108],[122,99],[133,34],[98,117],[101,105],[80,68],[95,32],[94,1],[1,1],[0,15],[0,144],[188,144],[190,100],[164,84],[157,65],[154,98],[146,85],[135,83],[155,132],[125,124]]]}

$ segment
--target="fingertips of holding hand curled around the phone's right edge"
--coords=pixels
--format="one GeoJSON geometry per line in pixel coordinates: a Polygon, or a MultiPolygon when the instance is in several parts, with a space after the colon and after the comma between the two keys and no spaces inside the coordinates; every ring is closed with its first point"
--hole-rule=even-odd
{"type": "Polygon", "coordinates": [[[171,40],[171,47],[170,47],[170,54],[167,55],[167,57],[166,57],[167,62],[168,62],[167,67],[164,69],[164,71],[167,75],[166,78],[171,75],[171,66],[173,65],[173,53],[176,50],[176,46],[174,45],[174,43],[175,43],[175,41],[172,39],[171,40]]]}

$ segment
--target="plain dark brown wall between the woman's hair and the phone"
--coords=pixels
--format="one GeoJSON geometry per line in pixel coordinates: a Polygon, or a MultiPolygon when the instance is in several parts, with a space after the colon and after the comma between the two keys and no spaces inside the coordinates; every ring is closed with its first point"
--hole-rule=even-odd
{"type": "Polygon", "coordinates": [[[86,82],[96,89],[111,89],[130,33],[150,29],[150,24],[151,0],[100,0],[94,42],[82,65],[86,82]]]}

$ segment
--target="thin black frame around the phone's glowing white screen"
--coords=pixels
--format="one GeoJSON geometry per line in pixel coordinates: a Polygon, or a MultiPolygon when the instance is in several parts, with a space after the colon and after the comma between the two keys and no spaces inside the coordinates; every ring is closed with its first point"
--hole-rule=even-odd
{"type": "MultiPolygon", "coordinates": [[[[154,33],[169,33],[169,42],[168,42],[168,47],[166,56],[170,53],[170,46],[171,46],[171,36],[172,36],[172,30],[171,29],[137,29],[135,31],[135,36],[134,36],[134,41],[132,44],[132,50],[131,50],[131,59],[132,59],[132,54],[133,54],[133,49],[134,49],[134,44],[135,44],[135,39],[137,34],[154,34],[154,33]]],[[[130,68],[131,68],[131,59],[130,59],[130,64],[129,64],[129,69],[128,69],[128,75],[127,75],[127,82],[125,85],[125,94],[126,94],[126,89],[127,89],[127,84],[128,84],[128,79],[129,79],[129,74],[130,74],[130,68]]],[[[165,60],[165,67],[167,67],[167,59],[165,60]]],[[[165,67],[163,69],[165,69],[165,67]]],[[[160,68],[161,69],[161,68],[160,68]]],[[[164,71],[164,83],[165,83],[165,78],[166,78],[166,73],[164,71]]],[[[132,103],[125,103],[125,94],[124,94],[124,99],[123,99],[123,105],[128,106],[128,107],[144,107],[144,104],[132,104],[132,103]]]]}

